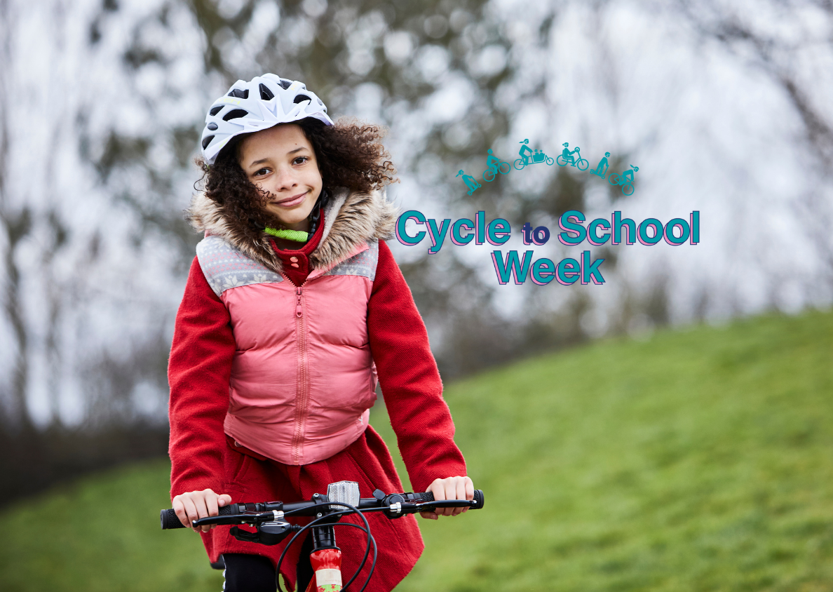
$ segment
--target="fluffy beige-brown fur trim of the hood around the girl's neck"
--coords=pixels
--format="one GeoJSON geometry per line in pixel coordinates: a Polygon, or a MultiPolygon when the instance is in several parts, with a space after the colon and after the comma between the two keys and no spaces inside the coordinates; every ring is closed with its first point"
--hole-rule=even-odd
{"type": "MultiPolygon", "coordinates": [[[[281,259],[272,249],[270,235],[227,217],[226,208],[205,193],[194,195],[186,218],[198,232],[220,237],[248,258],[281,273],[281,259]]],[[[324,208],[324,231],[310,255],[312,268],[332,268],[357,245],[391,238],[396,221],[397,208],[387,201],[382,191],[362,193],[337,189],[324,208]]]]}

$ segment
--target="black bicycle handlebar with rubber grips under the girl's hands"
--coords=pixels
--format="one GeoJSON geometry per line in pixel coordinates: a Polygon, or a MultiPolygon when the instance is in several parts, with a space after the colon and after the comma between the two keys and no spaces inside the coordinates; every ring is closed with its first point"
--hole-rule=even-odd
{"type": "MultiPolygon", "coordinates": [[[[485,503],[483,491],[475,489],[474,499],[444,499],[436,501],[434,494],[426,491],[421,494],[390,494],[385,495],[378,489],[373,492],[375,497],[359,499],[356,506],[359,511],[379,511],[388,514],[389,518],[397,518],[404,514],[416,514],[435,508],[459,508],[481,509],[485,503]],[[396,515],[392,515],[396,514],[396,515]]],[[[344,509],[343,504],[330,502],[326,495],[315,494],[313,499],[306,502],[293,502],[284,504],[282,502],[268,502],[257,504],[229,504],[219,509],[219,515],[208,516],[193,522],[193,526],[203,524],[256,524],[267,520],[275,519],[276,513],[292,514],[293,516],[314,516],[322,509],[333,508],[344,509]],[[332,504],[332,506],[330,505],[332,504]]],[[[177,513],[173,509],[163,509],[159,515],[162,529],[184,529],[177,513]]]]}

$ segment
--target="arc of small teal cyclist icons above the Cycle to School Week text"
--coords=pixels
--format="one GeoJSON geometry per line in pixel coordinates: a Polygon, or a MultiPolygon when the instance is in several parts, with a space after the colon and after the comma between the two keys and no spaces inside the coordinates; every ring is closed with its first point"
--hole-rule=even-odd
{"type": "MultiPolygon", "coordinates": [[[[558,163],[559,167],[566,167],[569,165],[580,171],[587,171],[587,169],[590,168],[590,162],[581,156],[581,148],[576,146],[576,148],[571,150],[570,143],[568,142],[561,144],[563,149],[561,150],[561,154],[559,154],[555,160],[553,160],[551,156],[547,156],[541,148],[536,148],[535,150],[530,148],[529,138],[521,140],[519,144],[521,144],[521,149],[518,151],[518,156],[520,158],[516,158],[515,162],[512,163],[516,170],[520,171],[521,169],[531,166],[532,164],[540,163],[546,163],[549,166],[552,166],[553,163],[558,163]]],[[[619,186],[621,188],[621,192],[625,195],[632,195],[634,192],[635,173],[639,170],[639,167],[631,164],[631,168],[628,168],[619,174],[611,173],[608,175],[607,168],[610,164],[608,162],[608,158],[610,158],[610,156],[611,153],[606,152],[605,155],[599,160],[596,168],[587,172],[592,175],[596,175],[596,177],[599,178],[607,177],[608,183],[611,183],[611,185],[614,186],[619,186]]],[[[486,181],[486,183],[491,183],[497,178],[498,174],[505,175],[510,171],[510,164],[496,157],[492,149],[489,148],[486,157],[486,170],[483,171],[483,180],[486,181]]],[[[468,188],[469,195],[474,193],[478,188],[482,187],[481,183],[479,183],[471,175],[466,174],[462,169],[456,174],[456,176],[462,177],[463,183],[466,183],[466,188],[468,188]]]]}

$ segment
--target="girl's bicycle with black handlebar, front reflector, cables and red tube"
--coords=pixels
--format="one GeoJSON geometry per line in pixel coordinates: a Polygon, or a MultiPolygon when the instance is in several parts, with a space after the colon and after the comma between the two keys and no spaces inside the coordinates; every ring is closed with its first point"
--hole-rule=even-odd
{"type": "MultiPolygon", "coordinates": [[[[284,504],[283,502],[267,503],[241,503],[229,504],[219,509],[219,515],[201,518],[192,522],[193,527],[206,524],[250,524],[257,527],[257,532],[248,532],[232,526],[231,534],[237,540],[248,541],[259,544],[279,544],[290,534],[292,539],[283,549],[280,558],[277,560],[275,569],[275,586],[278,592],[283,592],[280,574],[283,559],[292,544],[306,533],[312,532],[312,552],[310,563],[314,577],[307,585],[306,592],[338,592],[346,590],[350,584],[361,573],[370,550],[373,549],[373,560],[367,579],[365,579],[362,592],[367,587],[376,569],[377,546],[373,535],[370,532],[370,524],[364,517],[367,512],[382,512],[389,519],[401,518],[407,514],[430,511],[436,508],[461,508],[481,509],[485,499],[481,489],[475,489],[474,499],[445,499],[436,501],[431,492],[414,494],[385,494],[377,489],[373,492],[372,498],[360,498],[359,486],[355,481],[339,481],[327,486],[327,494],[313,494],[312,499],[307,502],[295,502],[284,504]],[[338,509],[342,508],[342,509],[338,509]],[[362,519],[361,524],[339,522],[342,516],[357,514],[362,519]],[[309,524],[300,526],[287,522],[287,516],[314,516],[309,524]],[[336,546],[335,526],[350,526],[362,530],[367,536],[365,554],[362,562],[342,586],[342,552],[336,546]]],[[[159,514],[162,529],[184,529],[177,513],[173,509],[163,509],[159,514]]]]}

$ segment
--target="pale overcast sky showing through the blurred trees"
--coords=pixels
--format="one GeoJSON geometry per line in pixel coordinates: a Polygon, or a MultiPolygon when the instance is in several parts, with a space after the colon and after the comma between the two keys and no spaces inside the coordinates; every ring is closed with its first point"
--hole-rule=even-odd
{"type": "MultiPolygon", "coordinates": [[[[140,202],[143,195],[158,191],[148,185],[146,174],[129,166],[116,169],[113,174],[120,177],[102,185],[79,153],[78,135],[79,130],[89,134],[85,145],[94,157],[106,146],[109,129],[149,132],[158,139],[150,153],[152,166],[173,172],[175,197],[167,203],[148,202],[147,211],[177,217],[187,207],[196,169],[178,167],[165,133],[201,123],[207,106],[225,92],[227,83],[204,75],[205,40],[192,13],[177,3],[168,13],[175,36],[161,26],[142,28],[142,34],[151,37],[148,43],[165,52],[168,67],[150,63],[127,81],[132,74],[123,67],[122,53],[134,25],[161,5],[161,0],[121,0],[118,11],[106,16],[107,28],[102,30],[107,33],[90,48],[90,23],[100,0],[6,3],[2,43],[7,59],[0,92],[9,151],[0,207],[11,214],[23,207],[32,211],[32,233],[17,246],[14,260],[22,270],[22,317],[30,332],[29,406],[40,421],[53,413],[69,423],[82,417],[91,404],[79,374],[85,359],[102,351],[115,359],[126,357],[131,355],[130,344],[148,328],[163,327],[168,335],[172,330],[184,285],[182,269],[171,261],[179,255],[162,236],[132,240],[136,233],[156,231],[142,226],[136,208],[127,208],[120,201],[124,196],[113,195],[111,188],[120,183],[130,187],[140,202]],[[134,93],[133,88],[142,92],[134,93]],[[57,250],[57,227],[50,213],[71,231],[57,250]],[[91,248],[97,249],[92,258],[91,248]],[[56,299],[72,303],[57,332],[49,322],[50,303],[56,299]],[[58,350],[61,354],[55,353],[58,350]],[[48,371],[56,363],[60,372],[48,371]]],[[[495,285],[506,315],[520,312],[521,291],[549,290],[551,306],[557,308],[566,290],[585,290],[598,304],[586,319],[587,328],[596,334],[606,330],[607,316],[620,303],[622,290],[649,289],[659,277],[668,278],[672,320],[680,323],[696,316],[704,293],[710,319],[773,306],[797,311],[829,304],[831,270],[824,268],[807,228],[813,220],[831,217],[825,177],[830,172],[802,143],[801,119],[771,75],[756,67],[754,56],[702,39],[670,8],[626,1],[606,3],[601,9],[577,1],[557,5],[556,23],[540,40],[538,28],[553,13],[553,5],[514,0],[490,4],[494,18],[505,23],[511,48],[507,52],[500,45],[486,45],[471,56],[468,68],[474,73],[500,71],[506,63],[516,68],[498,91],[498,100],[512,116],[509,133],[494,146],[496,154],[511,163],[519,141],[529,138],[531,147],[553,158],[563,142],[580,146],[591,167],[606,151],[613,158],[627,155],[627,163],[639,167],[635,193],[611,204],[606,181],[591,178],[588,219],[609,218],[619,209],[637,223],[649,217],[666,222],[687,219],[698,210],[701,243],[620,246],[618,270],[608,276],[608,283],[570,288],[531,282],[498,286],[490,245],[458,247],[446,241],[443,251],[453,250],[476,265],[495,285]],[[538,85],[544,93],[529,98],[538,85]],[[815,203],[816,209],[806,209],[806,203],[815,203]]],[[[765,5],[736,3],[733,10],[757,30],[792,43],[791,72],[830,122],[833,113],[824,98],[831,96],[831,44],[823,41],[829,31],[818,26],[830,19],[822,20],[810,10],[767,11],[765,5]]],[[[314,17],[326,3],[309,0],[304,6],[314,17]]],[[[238,8],[239,3],[223,2],[229,14],[238,8]]],[[[227,43],[229,59],[244,78],[257,68],[252,53],[281,18],[267,1],[258,4],[256,15],[242,41],[227,43]]],[[[426,27],[468,27],[472,35],[478,34],[477,23],[460,19],[456,22],[452,14],[451,22],[426,21],[426,27]]],[[[303,43],[308,31],[302,26],[295,31],[297,43],[303,43]]],[[[367,19],[353,36],[349,66],[356,72],[372,65],[367,39],[380,38],[387,59],[437,84],[436,93],[416,111],[385,97],[372,83],[342,100],[344,114],[387,123],[394,158],[415,163],[401,171],[402,183],[392,186],[392,198],[403,209],[419,209],[429,218],[473,217],[475,207],[450,205],[451,197],[466,191],[461,179],[436,173],[441,170],[432,161],[436,157],[423,157],[421,148],[429,129],[426,122],[446,126],[448,142],[465,140],[468,132],[459,121],[476,106],[478,88],[448,68],[445,48],[429,45],[412,53],[409,35],[385,30],[381,16],[367,19]],[[368,34],[368,28],[377,28],[377,34],[368,34]]],[[[475,155],[459,168],[481,178],[485,161],[486,154],[475,155]]],[[[557,168],[535,167],[512,169],[511,183],[534,193],[557,168]]],[[[557,261],[576,257],[586,248],[594,250],[586,243],[571,248],[558,244],[554,220],[530,222],[548,226],[553,235],[549,244],[535,248],[536,257],[557,261]]],[[[520,228],[513,231],[503,251],[526,250],[520,228]]],[[[7,236],[0,240],[7,252],[7,236]]],[[[392,246],[397,258],[407,261],[424,256],[429,244],[426,240],[417,247],[392,246]]],[[[7,277],[8,269],[3,273],[7,277]]],[[[0,335],[0,364],[6,364],[0,365],[0,376],[10,377],[16,342],[7,319],[0,324],[0,335]]],[[[148,389],[158,385],[138,383],[135,400],[147,413],[158,414],[163,399],[147,395],[148,389]]]]}

